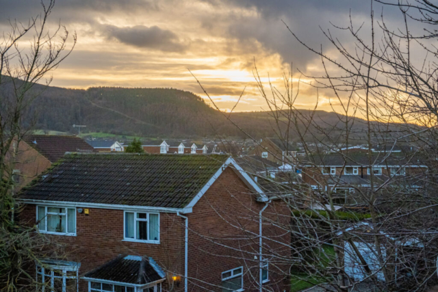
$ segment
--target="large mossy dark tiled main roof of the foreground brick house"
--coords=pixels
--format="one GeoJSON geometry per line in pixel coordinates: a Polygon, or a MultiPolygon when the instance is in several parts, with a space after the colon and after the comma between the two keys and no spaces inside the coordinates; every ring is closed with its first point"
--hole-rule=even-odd
{"type": "Polygon", "coordinates": [[[183,208],[227,155],[70,154],[23,190],[21,198],[183,208]]]}

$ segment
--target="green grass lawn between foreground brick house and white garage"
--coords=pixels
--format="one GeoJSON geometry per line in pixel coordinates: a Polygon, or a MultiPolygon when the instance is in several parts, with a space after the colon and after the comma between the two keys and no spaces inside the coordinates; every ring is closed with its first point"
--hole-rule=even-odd
{"type": "MultiPolygon", "coordinates": [[[[323,251],[319,257],[318,263],[315,263],[315,267],[326,267],[335,258],[335,249],[331,245],[324,245],[323,251]]],[[[295,273],[291,275],[291,292],[297,292],[304,289],[309,289],[315,285],[328,282],[329,278],[324,278],[315,275],[309,275],[306,273],[295,273]]]]}

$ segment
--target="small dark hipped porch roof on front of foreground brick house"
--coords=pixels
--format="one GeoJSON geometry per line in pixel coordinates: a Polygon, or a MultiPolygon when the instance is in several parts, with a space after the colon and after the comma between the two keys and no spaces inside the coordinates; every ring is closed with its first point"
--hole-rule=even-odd
{"type": "Polygon", "coordinates": [[[141,285],[162,280],[165,274],[152,258],[122,254],[84,277],[141,285]]]}

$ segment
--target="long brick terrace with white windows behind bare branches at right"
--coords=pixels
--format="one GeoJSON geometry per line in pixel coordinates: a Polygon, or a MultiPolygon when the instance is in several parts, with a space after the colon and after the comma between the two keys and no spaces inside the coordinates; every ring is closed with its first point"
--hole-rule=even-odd
{"type": "Polygon", "coordinates": [[[348,203],[357,189],[370,187],[371,172],[374,185],[385,183],[417,189],[424,187],[428,170],[422,155],[402,152],[390,155],[373,152],[371,157],[362,152],[329,153],[302,157],[299,161],[303,183],[315,190],[339,194],[337,204],[348,203]],[[371,168],[370,159],[373,161],[371,168]]]}

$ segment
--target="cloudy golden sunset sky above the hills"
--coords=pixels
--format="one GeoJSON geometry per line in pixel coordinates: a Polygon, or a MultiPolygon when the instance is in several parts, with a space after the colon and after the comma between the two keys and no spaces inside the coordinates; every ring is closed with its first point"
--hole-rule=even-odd
{"type": "MultiPolygon", "coordinates": [[[[0,31],[8,31],[8,19],[26,21],[41,10],[38,0],[0,0],[0,8],[0,31]]],[[[53,72],[52,85],[179,88],[205,97],[190,69],[221,109],[231,109],[246,86],[236,109],[259,111],[267,107],[255,86],[254,60],[262,81],[270,79],[280,90],[291,64],[295,72],[322,72],[320,59],[282,21],[319,47],[325,45],[320,27],[348,25],[350,11],[355,21],[367,21],[370,2],[57,0],[51,21],[76,31],[78,40],[53,72]]],[[[316,91],[305,84],[300,89],[296,105],[313,107],[316,91]]],[[[329,95],[320,96],[320,109],[331,110],[329,95]]]]}

